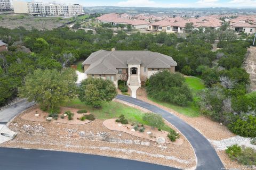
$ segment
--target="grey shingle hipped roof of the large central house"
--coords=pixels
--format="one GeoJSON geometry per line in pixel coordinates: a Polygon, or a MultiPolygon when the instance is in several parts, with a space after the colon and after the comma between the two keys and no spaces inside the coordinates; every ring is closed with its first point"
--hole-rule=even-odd
{"type": "Polygon", "coordinates": [[[150,51],[98,50],[92,53],[83,63],[90,65],[87,74],[116,74],[116,69],[127,69],[128,64],[141,64],[148,68],[170,68],[177,66],[172,57],[150,51]]]}

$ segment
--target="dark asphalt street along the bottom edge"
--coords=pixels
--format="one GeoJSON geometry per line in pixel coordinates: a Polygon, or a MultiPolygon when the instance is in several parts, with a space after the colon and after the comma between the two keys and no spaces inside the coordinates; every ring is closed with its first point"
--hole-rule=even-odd
{"type": "Polygon", "coordinates": [[[178,170],[135,160],[35,149],[0,148],[0,158],[3,170],[178,170]]]}

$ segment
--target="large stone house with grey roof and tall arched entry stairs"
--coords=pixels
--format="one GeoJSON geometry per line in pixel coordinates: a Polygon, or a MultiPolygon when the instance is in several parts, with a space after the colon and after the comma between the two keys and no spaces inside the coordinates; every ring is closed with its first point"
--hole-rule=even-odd
{"type": "MultiPolygon", "coordinates": [[[[136,90],[151,75],[167,69],[175,71],[177,63],[172,57],[150,51],[111,51],[98,50],[83,63],[87,77],[111,80],[117,87],[117,81],[127,76],[127,86],[136,90]]],[[[134,97],[132,95],[132,97],[134,97]]]]}

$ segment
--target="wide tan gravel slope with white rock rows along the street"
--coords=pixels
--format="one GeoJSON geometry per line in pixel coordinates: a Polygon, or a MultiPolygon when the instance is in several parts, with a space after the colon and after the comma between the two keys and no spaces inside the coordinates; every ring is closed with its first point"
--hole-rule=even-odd
{"type": "Polygon", "coordinates": [[[111,131],[103,125],[103,120],[96,119],[87,124],[71,125],[33,122],[21,118],[30,112],[34,114],[35,108],[28,109],[10,122],[9,128],[18,135],[13,140],[2,143],[0,147],[81,152],[181,169],[192,169],[196,166],[193,148],[183,135],[180,136],[183,141],[181,145],[158,144],[122,131],[111,131]]]}

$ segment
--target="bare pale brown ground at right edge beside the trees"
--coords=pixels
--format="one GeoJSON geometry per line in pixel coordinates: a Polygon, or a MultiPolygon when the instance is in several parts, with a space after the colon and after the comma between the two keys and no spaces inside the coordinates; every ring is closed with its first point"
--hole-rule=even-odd
{"type": "Polygon", "coordinates": [[[245,70],[250,74],[251,90],[256,91],[256,47],[248,49],[249,56],[244,62],[245,70]]]}

